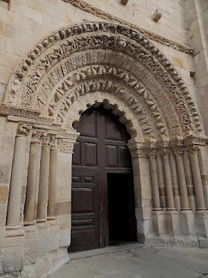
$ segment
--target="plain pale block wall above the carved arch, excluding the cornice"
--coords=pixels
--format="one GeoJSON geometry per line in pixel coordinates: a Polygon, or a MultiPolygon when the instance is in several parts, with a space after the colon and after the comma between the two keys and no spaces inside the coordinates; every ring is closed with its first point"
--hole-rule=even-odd
{"type": "MultiPolygon", "coordinates": [[[[165,0],[139,2],[130,0],[126,6],[123,6],[120,0],[87,0],[86,2],[105,13],[121,18],[121,20],[127,20],[150,32],[162,35],[164,38],[189,46],[188,25],[182,0],[168,1],[168,5],[165,0]],[[152,18],[156,8],[162,10],[162,18],[159,22],[154,22],[152,18]]],[[[0,6],[0,99],[3,97],[12,70],[26,51],[33,47],[33,44],[51,31],[67,24],[101,20],[101,17],[87,13],[62,0],[11,0],[9,10],[7,10],[7,5],[5,2],[3,4],[1,2],[0,6]]],[[[89,8],[87,10],[90,11],[89,8]]],[[[109,18],[106,17],[106,19],[109,18]]],[[[189,73],[195,71],[193,57],[164,46],[162,43],[153,42],[175,65],[184,82],[189,86],[191,94],[198,101],[195,84],[189,73]]]]}

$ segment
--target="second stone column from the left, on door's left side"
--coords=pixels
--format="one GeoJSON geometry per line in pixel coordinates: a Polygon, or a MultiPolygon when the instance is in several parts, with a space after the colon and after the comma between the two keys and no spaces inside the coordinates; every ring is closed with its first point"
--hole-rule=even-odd
{"type": "Polygon", "coordinates": [[[35,223],[35,191],[37,190],[37,167],[39,163],[40,138],[42,131],[33,129],[28,163],[26,201],[24,204],[24,225],[35,223]]]}

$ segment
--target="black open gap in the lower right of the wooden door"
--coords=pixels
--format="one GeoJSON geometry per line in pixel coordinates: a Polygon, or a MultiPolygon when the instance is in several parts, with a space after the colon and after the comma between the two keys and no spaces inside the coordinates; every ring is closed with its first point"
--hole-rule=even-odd
{"type": "Polygon", "coordinates": [[[137,240],[132,174],[107,174],[109,244],[137,240]]]}

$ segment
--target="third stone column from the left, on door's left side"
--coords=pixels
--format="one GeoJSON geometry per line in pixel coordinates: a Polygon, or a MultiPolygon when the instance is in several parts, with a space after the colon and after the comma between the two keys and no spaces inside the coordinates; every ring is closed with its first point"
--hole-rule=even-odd
{"type": "Polygon", "coordinates": [[[40,179],[37,202],[37,222],[46,221],[46,211],[48,204],[49,190],[49,160],[50,160],[50,142],[49,136],[44,134],[42,139],[42,151],[40,158],[40,179]]]}

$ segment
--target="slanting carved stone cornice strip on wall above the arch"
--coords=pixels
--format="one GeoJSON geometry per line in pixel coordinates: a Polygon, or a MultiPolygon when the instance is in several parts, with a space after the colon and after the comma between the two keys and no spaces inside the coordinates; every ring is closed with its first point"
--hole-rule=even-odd
{"type": "Polygon", "coordinates": [[[144,35],[146,38],[148,38],[150,40],[155,40],[155,42],[159,42],[161,44],[164,44],[168,47],[171,47],[178,51],[184,52],[191,56],[194,56],[194,54],[195,54],[194,49],[192,49],[191,47],[187,47],[184,44],[180,44],[178,42],[174,42],[173,40],[169,40],[168,38],[164,38],[162,35],[157,35],[156,33],[147,31],[144,28],[141,28],[135,24],[132,24],[132,23],[125,21],[114,15],[111,15],[110,13],[106,13],[104,10],[96,8],[92,5],[90,5],[89,3],[86,3],[83,0],[62,0],[62,1],[66,2],[66,3],[70,3],[72,6],[75,6],[76,8],[79,8],[80,10],[84,10],[87,13],[91,13],[92,15],[95,15],[96,17],[100,17],[101,19],[105,19],[108,22],[116,22],[116,23],[122,24],[124,26],[128,26],[129,28],[135,29],[135,30],[139,31],[142,35],[144,35]]]}

